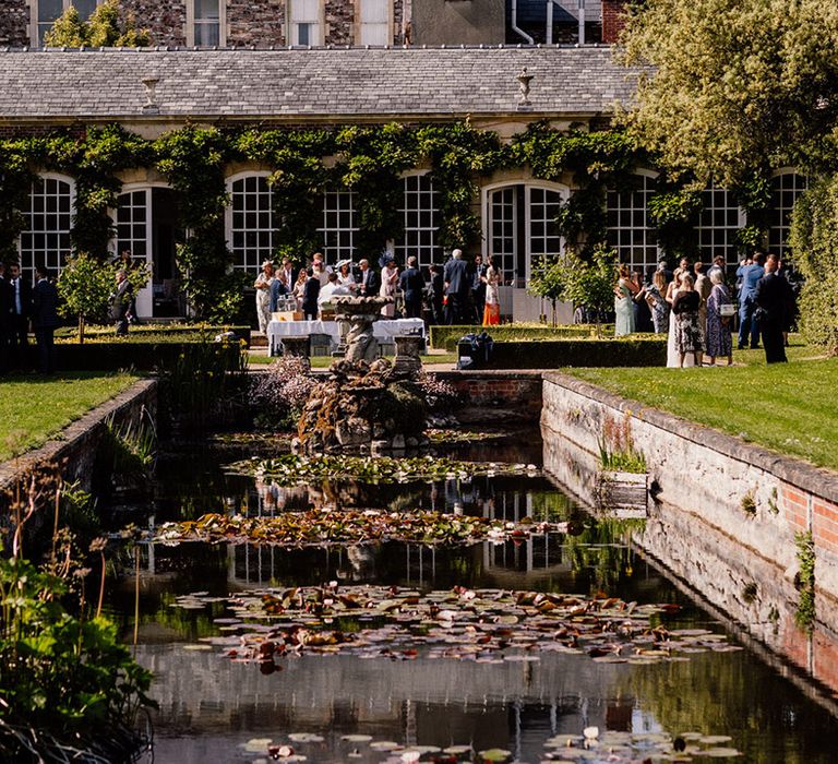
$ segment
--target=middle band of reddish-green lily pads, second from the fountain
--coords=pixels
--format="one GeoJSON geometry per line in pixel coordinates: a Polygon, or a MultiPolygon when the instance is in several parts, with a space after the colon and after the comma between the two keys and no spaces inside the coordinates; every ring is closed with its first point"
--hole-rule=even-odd
{"type": "Polygon", "coordinates": [[[258,517],[205,514],[196,521],[165,523],[152,540],[248,542],[287,548],[376,541],[450,545],[489,540],[500,544],[523,540],[531,534],[563,533],[566,527],[566,523],[511,523],[432,511],[309,510],[258,517]]]}

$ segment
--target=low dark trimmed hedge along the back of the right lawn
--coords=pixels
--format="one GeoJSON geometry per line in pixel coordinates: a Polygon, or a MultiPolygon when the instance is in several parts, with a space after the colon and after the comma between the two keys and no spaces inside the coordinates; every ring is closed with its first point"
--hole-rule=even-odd
{"type": "MultiPolygon", "coordinates": [[[[468,345],[464,347],[470,349],[468,345]]],[[[649,338],[644,339],[496,342],[489,363],[479,368],[561,369],[666,365],[666,335],[649,335],[649,338]]]]}

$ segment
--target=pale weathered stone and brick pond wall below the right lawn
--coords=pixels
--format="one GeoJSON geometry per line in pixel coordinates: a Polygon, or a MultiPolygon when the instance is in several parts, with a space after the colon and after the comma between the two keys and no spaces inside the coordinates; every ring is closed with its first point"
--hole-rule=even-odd
{"type": "MultiPolygon", "coordinates": [[[[838,599],[838,474],[630,401],[560,372],[543,375],[546,468],[592,500],[599,441],[628,420],[660,506],[687,511],[792,578],[795,534],[812,532],[819,594],[838,599]],[[573,455],[573,464],[568,461],[573,455]]],[[[696,533],[701,533],[696,525],[696,533]]]]}

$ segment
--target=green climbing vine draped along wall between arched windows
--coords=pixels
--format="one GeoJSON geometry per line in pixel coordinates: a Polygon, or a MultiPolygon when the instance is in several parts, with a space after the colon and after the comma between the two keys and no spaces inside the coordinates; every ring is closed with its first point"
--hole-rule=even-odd
{"type": "MultiPolygon", "coordinates": [[[[480,240],[475,208],[480,179],[523,166],[547,181],[565,182],[567,174],[573,176],[577,190],[562,206],[559,226],[567,243],[588,256],[606,239],[607,189],[630,188],[635,167],[648,158],[619,130],[560,132],[544,123],[508,144],[468,121],[331,129],[189,124],[155,141],[118,126],[76,128],[48,138],[0,141],[0,251],[13,253],[23,225],[17,211],[33,172],[53,169],[76,180],[74,250],[106,256],[115,234],[110,213],[121,190],[118,175],[132,167],[155,168],[179,192],[183,236],[178,266],[189,300],[199,315],[224,318],[241,297],[224,230],[229,202],[225,172],[237,162],[271,171],[276,254],[299,262],[321,246],[318,228],[326,190],[356,193],[357,253],[375,258],[404,225],[402,175],[427,168],[439,194],[438,242],[444,249],[468,248],[480,240]]],[[[673,193],[681,191],[666,188],[657,196],[660,225],[683,224],[695,213],[694,198],[673,193]]]]}

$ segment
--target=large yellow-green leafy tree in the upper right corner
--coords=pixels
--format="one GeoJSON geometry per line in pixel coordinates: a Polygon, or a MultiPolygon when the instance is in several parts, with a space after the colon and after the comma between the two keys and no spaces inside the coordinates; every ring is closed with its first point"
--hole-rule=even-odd
{"type": "Polygon", "coordinates": [[[625,119],[670,171],[730,188],[771,167],[838,167],[838,3],[638,0],[625,119]]]}

